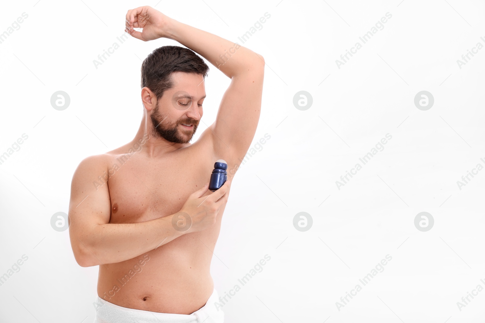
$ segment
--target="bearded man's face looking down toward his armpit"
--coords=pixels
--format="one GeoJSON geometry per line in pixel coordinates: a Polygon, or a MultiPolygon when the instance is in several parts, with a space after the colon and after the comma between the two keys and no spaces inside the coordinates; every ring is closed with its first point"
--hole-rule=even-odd
{"type": "Polygon", "coordinates": [[[165,90],[150,114],[154,137],[175,143],[188,143],[202,117],[206,96],[204,77],[194,73],[174,72],[174,86],[165,90]],[[184,124],[190,125],[190,127],[184,124]]]}

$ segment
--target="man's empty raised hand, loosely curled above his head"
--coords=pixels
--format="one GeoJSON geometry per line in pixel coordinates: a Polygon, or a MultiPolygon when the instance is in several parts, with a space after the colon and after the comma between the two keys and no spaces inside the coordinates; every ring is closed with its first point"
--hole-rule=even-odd
{"type": "Polygon", "coordinates": [[[125,19],[125,31],[143,41],[167,37],[167,25],[170,18],[150,6],[128,10],[125,19]],[[135,31],[133,28],[143,28],[135,31]]]}

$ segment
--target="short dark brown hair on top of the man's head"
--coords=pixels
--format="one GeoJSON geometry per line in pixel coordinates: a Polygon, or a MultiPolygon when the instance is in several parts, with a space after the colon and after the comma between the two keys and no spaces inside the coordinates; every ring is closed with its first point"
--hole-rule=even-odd
{"type": "Polygon", "coordinates": [[[154,49],[142,63],[141,87],[147,87],[160,100],[173,87],[172,73],[186,72],[207,76],[209,66],[194,51],[180,46],[154,49]]]}

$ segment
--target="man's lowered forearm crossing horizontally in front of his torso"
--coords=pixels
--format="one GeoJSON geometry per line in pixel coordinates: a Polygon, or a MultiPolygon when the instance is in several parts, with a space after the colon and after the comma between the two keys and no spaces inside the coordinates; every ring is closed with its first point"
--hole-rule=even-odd
{"type": "Polygon", "coordinates": [[[178,238],[185,232],[174,229],[172,216],[177,214],[141,223],[95,226],[78,238],[82,265],[88,267],[129,260],[178,238]]]}

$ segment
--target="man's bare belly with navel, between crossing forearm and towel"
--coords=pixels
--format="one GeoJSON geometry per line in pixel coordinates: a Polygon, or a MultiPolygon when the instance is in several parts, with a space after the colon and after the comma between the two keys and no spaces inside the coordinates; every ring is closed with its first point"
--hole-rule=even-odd
{"type": "Polygon", "coordinates": [[[203,307],[213,292],[210,261],[218,222],[217,228],[184,234],[136,258],[100,265],[98,296],[160,313],[191,314],[203,307]]]}

